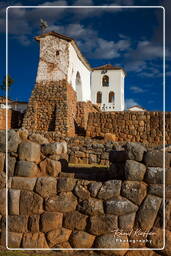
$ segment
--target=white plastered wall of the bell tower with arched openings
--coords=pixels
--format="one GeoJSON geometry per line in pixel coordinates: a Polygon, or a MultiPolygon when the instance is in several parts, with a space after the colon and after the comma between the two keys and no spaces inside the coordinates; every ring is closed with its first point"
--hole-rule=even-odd
{"type": "Polygon", "coordinates": [[[93,103],[97,103],[97,92],[102,93],[102,103],[105,104],[105,111],[123,111],[124,110],[124,73],[122,70],[108,70],[101,74],[102,70],[92,72],[91,98],[93,103]],[[102,77],[109,76],[109,86],[102,86],[102,77]],[[109,93],[114,92],[115,101],[109,103],[109,93]],[[114,108],[113,108],[114,105],[114,108]]]}

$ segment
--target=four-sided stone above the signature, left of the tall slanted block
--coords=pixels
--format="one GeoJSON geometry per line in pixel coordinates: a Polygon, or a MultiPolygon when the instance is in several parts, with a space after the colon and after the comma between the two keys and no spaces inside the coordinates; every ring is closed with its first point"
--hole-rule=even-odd
{"type": "Polygon", "coordinates": [[[131,231],[134,227],[135,212],[119,216],[119,229],[131,231]]]}

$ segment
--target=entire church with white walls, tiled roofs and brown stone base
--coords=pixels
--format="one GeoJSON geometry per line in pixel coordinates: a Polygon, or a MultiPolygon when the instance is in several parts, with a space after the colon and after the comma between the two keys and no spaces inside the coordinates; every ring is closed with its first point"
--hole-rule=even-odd
{"type": "Polygon", "coordinates": [[[74,136],[79,113],[87,119],[89,112],[124,110],[122,68],[91,68],[75,40],[56,32],[35,39],[40,43],[40,58],[24,128],[74,136]]]}

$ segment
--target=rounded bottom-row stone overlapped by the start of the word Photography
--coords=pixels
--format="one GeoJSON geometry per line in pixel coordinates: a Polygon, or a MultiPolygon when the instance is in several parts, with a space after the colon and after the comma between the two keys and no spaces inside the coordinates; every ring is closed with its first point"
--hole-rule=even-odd
{"type": "MultiPolygon", "coordinates": [[[[117,236],[114,233],[98,236],[95,240],[95,248],[129,248],[127,236],[117,236]],[[125,241],[125,242],[124,242],[125,241]]],[[[123,251],[124,252],[124,251],[123,251]]],[[[124,255],[123,254],[120,255],[124,255]]]]}

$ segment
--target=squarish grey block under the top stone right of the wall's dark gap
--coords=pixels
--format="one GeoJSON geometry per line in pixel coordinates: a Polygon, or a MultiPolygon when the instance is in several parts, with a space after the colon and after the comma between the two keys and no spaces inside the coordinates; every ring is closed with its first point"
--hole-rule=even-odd
{"type": "Polygon", "coordinates": [[[146,166],[134,160],[127,160],[125,164],[125,176],[127,180],[142,181],[146,172],[146,166]]]}

